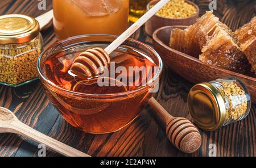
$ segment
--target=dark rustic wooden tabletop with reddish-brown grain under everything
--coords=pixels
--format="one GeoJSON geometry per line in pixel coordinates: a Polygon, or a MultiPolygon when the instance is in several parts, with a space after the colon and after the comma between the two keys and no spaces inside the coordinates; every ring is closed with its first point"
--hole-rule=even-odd
{"type": "MultiPolygon", "coordinates": [[[[51,0],[47,0],[47,9],[38,10],[37,0],[5,0],[0,1],[0,13],[26,14],[38,16],[50,10],[51,0]]],[[[194,1],[204,12],[209,1],[194,1]]],[[[232,2],[233,3],[233,2],[232,2]]],[[[255,1],[242,2],[226,6],[224,1],[218,0],[218,16],[233,29],[248,22],[255,15],[247,14],[244,9],[254,9],[255,1]],[[233,6],[232,6],[233,5],[233,6]],[[225,12],[224,12],[225,11],[225,12]],[[237,17],[241,14],[242,17],[237,17]],[[229,22],[228,17],[236,21],[229,22]]],[[[42,32],[47,47],[56,41],[52,26],[42,32]]],[[[143,28],[137,31],[133,38],[151,44],[152,39],[146,36],[143,28]]],[[[187,107],[187,95],[192,83],[164,69],[160,81],[160,91],[156,99],[170,114],[191,119],[187,107]]],[[[73,128],[62,119],[56,108],[49,102],[40,81],[28,85],[12,88],[0,86],[0,106],[14,111],[23,123],[51,136],[65,144],[71,145],[92,156],[209,156],[211,144],[216,145],[217,156],[256,156],[256,106],[246,119],[228,125],[214,132],[200,131],[203,138],[201,148],[193,154],[184,154],[177,150],[166,138],[163,121],[155,114],[151,107],[147,107],[132,124],[116,133],[106,135],[91,135],[73,128]]],[[[213,145],[214,146],[214,145],[213,145]]],[[[38,156],[38,144],[24,137],[11,133],[0,136],[0,156],[38,156]]],[[[47,150],[47,156],[59,154],[47,150]]]]}

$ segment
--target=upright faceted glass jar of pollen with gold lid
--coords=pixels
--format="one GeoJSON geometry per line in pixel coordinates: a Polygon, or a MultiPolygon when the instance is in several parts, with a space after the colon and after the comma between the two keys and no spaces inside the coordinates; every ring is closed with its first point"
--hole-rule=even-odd
{"type": "Polygon", "coordinates": [[[0,83],[20,86],[38,77],[36,62],[43,50],[39,23],[26,15],[0,16],[0,83]]]}

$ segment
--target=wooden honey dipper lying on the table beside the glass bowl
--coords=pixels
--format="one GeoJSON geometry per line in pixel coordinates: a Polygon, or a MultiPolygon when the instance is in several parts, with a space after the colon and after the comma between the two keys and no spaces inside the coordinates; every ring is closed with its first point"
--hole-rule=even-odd
{"type": "Polygon", "coordinates": [[[191,121],[183,117],[171,116],[155,98],[151,98],[148,103],[165,121],[166,135],[177,149],[184,153],[193,153],[200,148],[201,135],[191,121]]]}

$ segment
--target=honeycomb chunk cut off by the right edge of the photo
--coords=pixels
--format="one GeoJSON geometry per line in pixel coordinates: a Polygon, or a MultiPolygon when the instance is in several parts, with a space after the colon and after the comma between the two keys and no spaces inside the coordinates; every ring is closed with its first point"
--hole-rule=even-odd
{"type": "Polygon", "coordinates": [[[251,70],[256,74],[256,16],[251,22],[236,30],[240,47],[251,64],[251,70]]]}

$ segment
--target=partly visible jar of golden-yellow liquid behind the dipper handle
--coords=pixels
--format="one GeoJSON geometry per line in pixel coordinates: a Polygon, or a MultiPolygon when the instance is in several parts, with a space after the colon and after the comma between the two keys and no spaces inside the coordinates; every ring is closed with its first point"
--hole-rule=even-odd
{"type": "Polygon", "coordinates": [[[146,13],[147,4],[151,0],[130,0],[130,16],[131,22],[136,22],[142,15],[146,13]]]}

